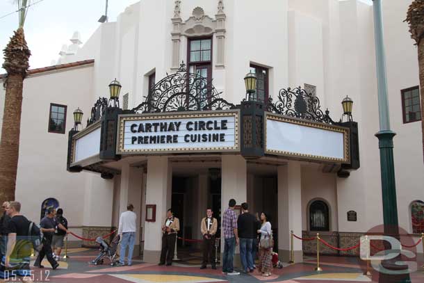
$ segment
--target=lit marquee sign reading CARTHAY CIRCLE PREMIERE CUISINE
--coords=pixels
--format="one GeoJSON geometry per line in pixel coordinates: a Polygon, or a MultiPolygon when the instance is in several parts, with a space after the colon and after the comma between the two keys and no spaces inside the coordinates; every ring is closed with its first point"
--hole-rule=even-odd
{"type": "Polygon", "coordinates": [[[120,115],[117,154],[239,152],[239,111],[120,115]]]}

